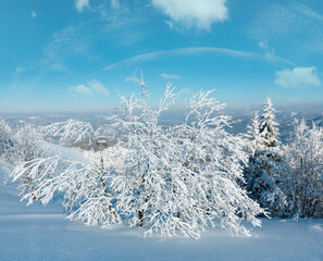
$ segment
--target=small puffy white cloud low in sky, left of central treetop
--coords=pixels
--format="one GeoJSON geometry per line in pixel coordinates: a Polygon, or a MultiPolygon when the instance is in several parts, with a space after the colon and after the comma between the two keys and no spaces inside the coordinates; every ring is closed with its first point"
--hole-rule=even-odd
{"type": "Polygon", "coordinates": [[[87,85],[76,85],[69,88],[69,92],[73,97],[94,96],[94,95],[109,95],[109,90],[98,79],[91,79],[87,82],[87,85]]]}

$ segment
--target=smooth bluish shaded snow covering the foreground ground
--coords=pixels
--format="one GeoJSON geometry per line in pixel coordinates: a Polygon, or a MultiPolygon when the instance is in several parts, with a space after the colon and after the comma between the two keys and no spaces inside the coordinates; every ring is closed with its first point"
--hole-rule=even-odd
{"type": "Polygon", "coordinates": [[[208,229],[199,240],[145,238],[141,228],[70,222],[58,201],[26,207],[16,184],[2,181],[0,171],[0,260],[323,260],[323,220],[262,219],[262,227],[246,223],[251,237],[208,229]]]}

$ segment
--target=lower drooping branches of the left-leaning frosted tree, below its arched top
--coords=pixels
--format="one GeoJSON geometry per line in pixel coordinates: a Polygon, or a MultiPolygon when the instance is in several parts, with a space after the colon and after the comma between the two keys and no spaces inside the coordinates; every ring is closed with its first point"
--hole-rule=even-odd
{"type": "Polygon", "coordinates": [[[70,220],[101,226],[121,222],[114,197],[109,191],[110,175],[102,163],[86,164],[60,156],[39,158],[17,167],[13,172],[14,181],[26,173],[35,185],[34,190],[26,191],[22,198],[27,199],[28,204],[35,198],[47,204],[57,192],[61,192],[70,220]]]}

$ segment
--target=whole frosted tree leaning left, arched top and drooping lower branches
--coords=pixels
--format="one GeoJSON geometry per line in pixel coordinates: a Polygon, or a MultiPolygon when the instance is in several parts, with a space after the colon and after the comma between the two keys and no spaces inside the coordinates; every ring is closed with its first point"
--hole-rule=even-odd
{"type": "MultiPolygon", "coordinates": [[[[40,133],[45,137],[59,137],[61,144],[87,142],[89,146],[101,148],[99,136],[92,126],[77,120],[53,123],[40,133]]],[[[35,132],[28,129],[25,135],[28,137],[27,141],[23,144],[21,141],[23,139],[18,139],[18,144],[23,144],[23,148],[28,148],[33,140],[30,137],[34,137],[32,142],[34,148],[29,149],[34,152],[39,151],[39,148],[44,148],[45,141],[39,138],[39,134],[37,138],[35,135],[35,132]]],[[[110,176],[107,173],[102,156],[99,160],[79,162],[58,153],[45,153],[41,150],[38,158],[33,154],[27,162],[16,167],[12,177],[13,181],[21,181],[21,187],[24,187],[23,199],[27,199],[28,204],[35,199],[47,204],[57,192],[60,192],[63,194],[63,206],[69,219],[79,220],[89,225],[109,226],[120,223],[121,219],[113,207],[114,198],[109,192],[110,176]],[[25,179],[28,182],[27,188],[33,187],[33,189],[25,188],[25,179]]]]}

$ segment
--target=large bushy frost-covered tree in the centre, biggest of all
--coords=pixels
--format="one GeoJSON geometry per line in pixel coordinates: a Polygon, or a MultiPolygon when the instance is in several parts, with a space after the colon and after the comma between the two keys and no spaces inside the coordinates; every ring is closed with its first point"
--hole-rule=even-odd
{"type": "Polygon", "coordinates": [[[123,99],[129,153],[125,173],[112,187],[131,226],[145,226],[148,235],[198,237],[216,222],[244,234],[241,217],[259,225],[254,215],[262,210],[237,185],[246,161],[244,141],[225,132],[229,117],[216,114],[224,104],[210,95],[195,95],[184,124],[169,128],[159,125],[159,117],[176,100],[170,85],[156,111],[145,100],[123,99]]]}

